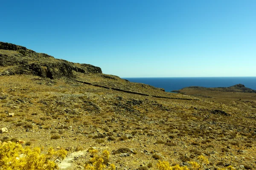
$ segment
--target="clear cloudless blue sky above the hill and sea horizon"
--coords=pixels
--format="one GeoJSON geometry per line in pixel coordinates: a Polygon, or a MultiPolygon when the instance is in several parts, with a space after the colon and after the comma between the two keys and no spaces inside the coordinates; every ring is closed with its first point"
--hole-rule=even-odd
{"type": "Polygon", "coordinates": [[[0,41],[119,77],[256,76],[256,0],[4,0],[0,41]]]}

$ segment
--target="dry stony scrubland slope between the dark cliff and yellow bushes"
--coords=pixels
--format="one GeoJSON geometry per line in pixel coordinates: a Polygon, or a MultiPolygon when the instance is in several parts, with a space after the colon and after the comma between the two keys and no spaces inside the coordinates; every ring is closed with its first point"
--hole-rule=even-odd
{"type": "MultiPolygon", "coordinates": [[[[3,49],[0,54],[20,55],[3,49]]],[[[67,157],[55,160],[62,169],[89,169],[86,163],[106,151],[109,169],[165,170],[160,165],[166,161],[193,169],[191,161],[200,163],[199,156],[209,160],[202,170],[256,169],[256,94],[172,94],[102,73],[72,71],[50,79],[6,74],[10,69],[0,66],[0,129],[7,128],[1,142],[20,140],[23,147],[44,147],[43,153],[64,149],[67,157]]]]}

